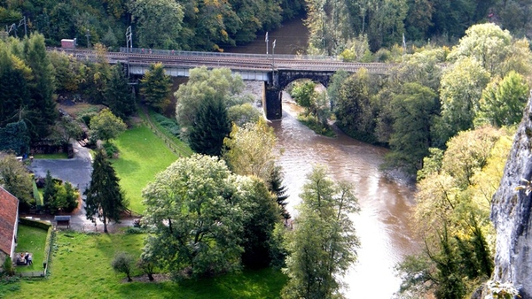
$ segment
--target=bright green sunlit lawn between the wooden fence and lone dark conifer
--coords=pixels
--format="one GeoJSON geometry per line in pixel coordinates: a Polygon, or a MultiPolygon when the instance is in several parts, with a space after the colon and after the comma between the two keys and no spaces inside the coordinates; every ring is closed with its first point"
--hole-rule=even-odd
{"type": "Polygon", "coordinates": [[[129,209],[143,213],[142,189],[154,180],[155,174],[175,162],[177,156],[142,125],[124,132],[114,143],[120,149],[120,157],[113,160],[113,167],[121,178],[121,188],[126,190],[129,209]]]}

